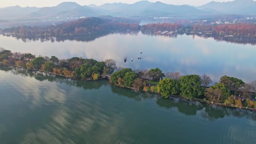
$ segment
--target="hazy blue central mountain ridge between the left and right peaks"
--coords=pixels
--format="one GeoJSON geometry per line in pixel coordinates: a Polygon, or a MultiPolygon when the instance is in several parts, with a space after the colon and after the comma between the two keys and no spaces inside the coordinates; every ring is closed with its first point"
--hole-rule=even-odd
{"type": "Polygon", "coordinates": [[[106,3],[101,6],[90,5],[98,13],[112,16],[186,16],[207,14],[187,5],[172,5],[162,2],[138,1],[134,4],[106,3]]]}

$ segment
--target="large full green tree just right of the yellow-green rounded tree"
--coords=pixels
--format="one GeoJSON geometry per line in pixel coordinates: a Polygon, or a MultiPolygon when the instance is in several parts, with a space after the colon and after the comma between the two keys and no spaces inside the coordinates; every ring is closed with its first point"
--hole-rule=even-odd
{"type": "Polygon", "coordinates": [[[181,95],[194,98],[204,93],[201,79],[198,75],[186,75],[179,79],[181,95]]]}

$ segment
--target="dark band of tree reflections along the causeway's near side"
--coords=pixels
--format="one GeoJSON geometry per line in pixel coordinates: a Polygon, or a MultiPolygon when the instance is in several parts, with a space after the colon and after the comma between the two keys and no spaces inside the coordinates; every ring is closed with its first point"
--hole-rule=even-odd
{"type": "MultiPolygon", "coordinates": [[[[76,86],[83,89],[99,89],[102,86],[110,86],[107,80],[100,80],[94,82],[85,82],[80,80],[72,80],[60,76],[55,76],[52,74],[41,73],[37,71],[27,71],[20,68],[10,68],[0,66],[2,71],[11,71],[15,75],[21,75],[23,77],[34,77],[36,80],[44,81],[48,80],[49,82],[58,82],[65,83],[69,86],[76,86]]],[[[200,115],[204,119],[208,120],[217,120],[228,116],[233,117],[246,117],[247,119],[256,120],[255,111],[248,110],[239,110],[229,107],[221,107],[217,105],[208,105],[196,101],[188,101],[186,99],[180,98],[169,98],[164,99],[159,95],[144,93],[144,92],[135,92],[130,89],[119,88],[116,86],[110,86],[111,91],[118,96],[125,96],[127,98],[134,99],[135,101],[142,102],[146,99],[155,100],[156,104],[160,107],[165,107],[167,109],[177,108],[180,113],[185,115],[193,116],[200,115]]]]}

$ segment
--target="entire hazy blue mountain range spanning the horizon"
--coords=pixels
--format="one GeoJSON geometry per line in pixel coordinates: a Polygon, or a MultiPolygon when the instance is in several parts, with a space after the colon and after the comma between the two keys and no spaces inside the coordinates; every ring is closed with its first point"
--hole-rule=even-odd
{"type": "Polygon", "coordinates": [[[101,6],[81,6],[75,2],[64,2],[53,7],[0,8],[0,20],[4,19],[76,19],[80,17],[111,15],[118,17],[201,17],[214,14],[256,15],[256,1],[234,0],[216,2],[202,6],[173,5],[162,2],[138,1],[134,4],[106,3],[101,6]]]}

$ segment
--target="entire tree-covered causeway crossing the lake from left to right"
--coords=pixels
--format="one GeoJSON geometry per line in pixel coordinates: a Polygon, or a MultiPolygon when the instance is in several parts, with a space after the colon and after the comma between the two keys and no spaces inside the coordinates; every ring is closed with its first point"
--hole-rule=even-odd
{"type": "Polygon", "coordinates": [[[27,70],[40,70],[77,80],[99,80],[110,76],[112,85],[135,91],[160,94],[163,98],[175,96],[210,104],[256,110],[256,80],[243,80],[222,76],[218,83],[207,75],[185,75],[179,72],[162,73],[159,68],[132,70],[116,67],[113,59],[96,61],[73,57],[58,59],[56,56],[38,56],[31,53],[11,52],[0,48],[0,64],[14,65],[27,70]]]}

